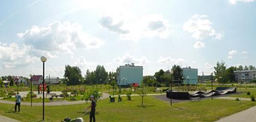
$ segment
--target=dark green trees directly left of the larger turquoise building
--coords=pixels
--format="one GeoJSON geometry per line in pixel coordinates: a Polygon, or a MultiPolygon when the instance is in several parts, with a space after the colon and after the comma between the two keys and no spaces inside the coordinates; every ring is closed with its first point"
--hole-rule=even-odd
{"type": "MultiPolygon", "coordinates": [[[[117,68],[117,72],[118,72],[117,68]]],[[[82,77],[82,72],[79,67],[77,66],[65,66],[65,74],[63,77],[68,77],[69,85],[77,85],[77,84],[106,84],[111,81],[113,81],[113,77],[115,77],[115,80],[117,79],[117,72],[106,72],[104,66],[98,65],[96,67],[96,70],[90,72],[87,70],[86,75],[82,77]]],[[[67,79],[64,79],[65,82],[67,82],[67,79]]]]}

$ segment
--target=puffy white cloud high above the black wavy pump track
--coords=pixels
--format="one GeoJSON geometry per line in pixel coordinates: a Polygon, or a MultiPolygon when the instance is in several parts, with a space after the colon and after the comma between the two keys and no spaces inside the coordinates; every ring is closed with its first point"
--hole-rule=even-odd
{"type": "Polygon", "coordinates": [[[191,36],[196,40],[203,40],[208,37],[221,39],[223,37],[223,34],[212,28],[212,22],[208,20],[207,15],[193,15],[184,23],[183,30],[191,33],[191,36]]]}

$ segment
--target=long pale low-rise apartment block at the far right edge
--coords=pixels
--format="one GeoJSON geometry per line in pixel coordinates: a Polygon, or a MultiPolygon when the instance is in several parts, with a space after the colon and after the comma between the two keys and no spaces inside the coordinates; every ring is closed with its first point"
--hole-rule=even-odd
{"type": "Polygon", "coordinates": [[[234,71],[234,76],[237,82],[250,82],[256,79],[256,70],[234,71]]]}

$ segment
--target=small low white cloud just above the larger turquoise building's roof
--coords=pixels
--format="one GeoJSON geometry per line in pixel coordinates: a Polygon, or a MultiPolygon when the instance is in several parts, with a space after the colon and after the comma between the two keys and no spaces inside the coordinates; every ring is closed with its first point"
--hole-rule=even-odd
{"type": "Polygon", "coordinates": [[[135,65],[137,64],[137,65],[143,66],[144,64],[148,63],[148,60],[145,56],[136,58],[136,57],[132,56],[130,53],[125,53],[121,57],[116,57],[114,59],[114,62],[118,63],[120,65],[124,65],[124,64],[127,64],[127,62],[130,62],[130,63],[135,63],[135,65]]]}

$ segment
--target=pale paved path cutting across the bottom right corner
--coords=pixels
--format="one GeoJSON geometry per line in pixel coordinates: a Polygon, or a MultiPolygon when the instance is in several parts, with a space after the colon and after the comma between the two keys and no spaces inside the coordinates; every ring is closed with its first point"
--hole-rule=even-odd
{"type": "Polygon", "coordinates": [[[244,111],[229,115],[227,117],[221,118],[216,122],[255,122],[256,121],[256,106],[246,109],[244,111]]]}

